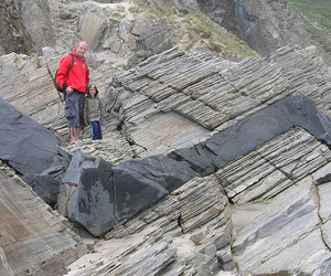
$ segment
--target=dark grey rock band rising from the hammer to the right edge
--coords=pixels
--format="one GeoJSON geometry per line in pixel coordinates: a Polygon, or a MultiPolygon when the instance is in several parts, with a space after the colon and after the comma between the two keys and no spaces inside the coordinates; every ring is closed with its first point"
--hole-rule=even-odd
{"type": "MultiPolygon", "coordinates": [[[[318,112],[311,100],[297,95],[257,112],[206,141],[171,151],[168,157],[153,156],[110,167],[100,159],[76,155],[71,163],[73,168],[67,170],[63,179],[64,182],[77,184],[71,190],[68,219],[83,225],[93,235],[105,234],[191,179],[222,171],[229,162],[293,127],[306,129],[327,147],[331,147],[331,119],[318,112]]],[[[322,152],[320,155],[322,160],[328,160],[322,152]]],[[[268,176],[268,172],[265,168],[257,174],[257,179],[268,176]]],[[[292,173],[288,171],[284,177],[292,173]]],[[[267,187],[261,184],[259,197],[264,197],[264,193],[277,194],[274,190],[279,193],[288,187],[281,183],[279,188],[279,183],[268,183],[267,187]]],[[[222,184],[229,199],[255,199],[250,192],[249,195],[242,193],[249,187],[241,183],[237,188],[236,184],[232,181],[222,184]]]]}

